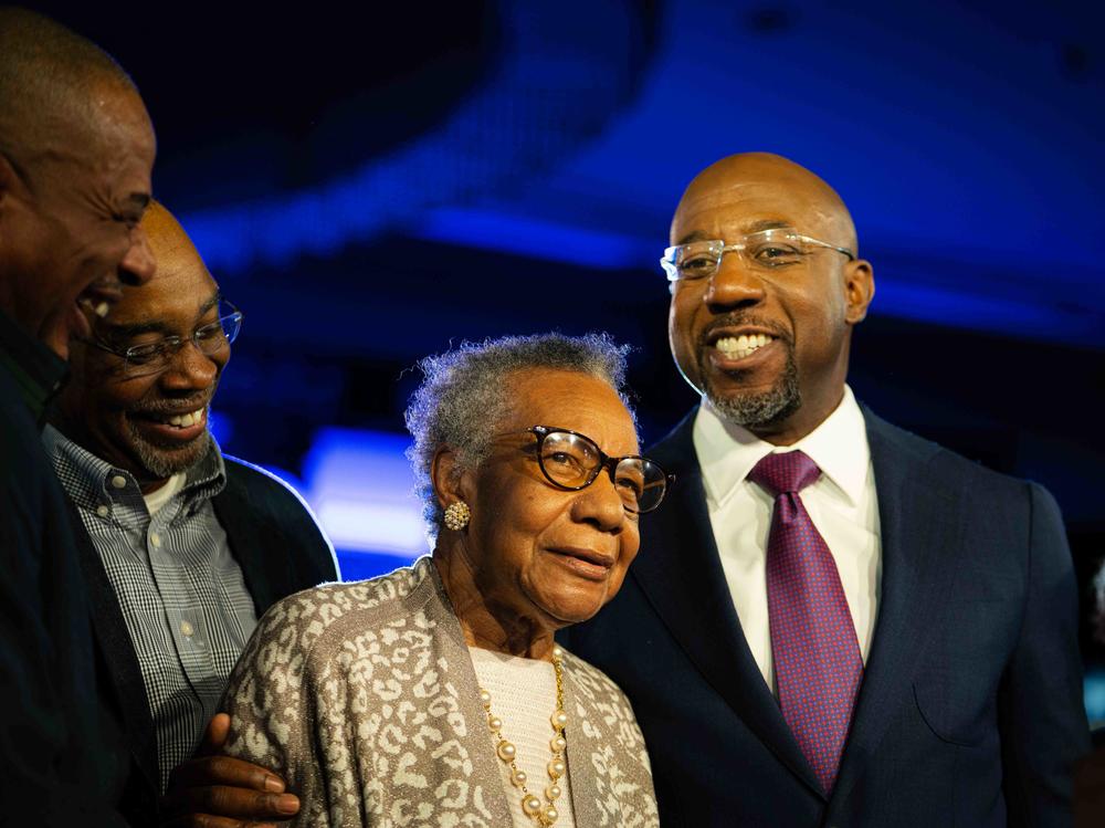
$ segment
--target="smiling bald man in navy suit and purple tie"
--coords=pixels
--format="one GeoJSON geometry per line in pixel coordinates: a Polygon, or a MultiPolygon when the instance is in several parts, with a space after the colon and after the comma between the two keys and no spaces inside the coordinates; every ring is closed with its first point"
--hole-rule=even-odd
{"type": "Polygon", "coordinates": [[[566,636],[632,701],[662,824],[1069,825],[1088,738],[1055,502],[855,401],[872,268],[809,170],[722,159],[671,243],[703,401],[650,449],[677,481],[621,594],[566,636]]]}

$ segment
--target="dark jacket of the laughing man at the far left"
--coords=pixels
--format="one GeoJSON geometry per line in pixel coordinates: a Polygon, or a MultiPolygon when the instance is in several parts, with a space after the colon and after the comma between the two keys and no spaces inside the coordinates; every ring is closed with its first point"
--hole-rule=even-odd
{"type": "Polygon", "coordinates": [[[0,825],[122,826],[118,722],[38,420],[65,366],[0,314],[0,825]]]}

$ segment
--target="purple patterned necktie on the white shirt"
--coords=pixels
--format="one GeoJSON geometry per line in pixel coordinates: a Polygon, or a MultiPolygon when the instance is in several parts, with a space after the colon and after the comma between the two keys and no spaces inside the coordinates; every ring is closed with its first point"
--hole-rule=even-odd
{"type": "Polygon", "coordinates": [[[767,607],[779,706],[832,793],[863,660],[836,563],[798,493],[821,476],[801,451],[768,454],[748,479],[775,495],[767,542],[767,607]]]}

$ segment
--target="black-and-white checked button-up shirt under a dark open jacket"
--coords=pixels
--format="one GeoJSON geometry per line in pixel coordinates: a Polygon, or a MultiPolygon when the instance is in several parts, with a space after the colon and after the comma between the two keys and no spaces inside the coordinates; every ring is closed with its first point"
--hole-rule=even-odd
{"type": "Polygon", "coordinates": [[[135,478],[46,427],[46,452],[81,513],[123,610],[157,734],[162,792],[191,756],[257,617],[211,497],[227,472],[211,451],[151,516],[135,478]]]}

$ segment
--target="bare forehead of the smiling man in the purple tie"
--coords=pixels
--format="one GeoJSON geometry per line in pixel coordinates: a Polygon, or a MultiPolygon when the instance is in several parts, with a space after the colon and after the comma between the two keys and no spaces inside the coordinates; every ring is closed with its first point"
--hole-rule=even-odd
{"type": "Polygon", "coordinates": [[[851,245],[854,239],[851,218],[839,197],[800,168],[711,168],[683,193],[672,220],[671,243],[732,241],[775,227],[792,228],[842,245],[851,245]]]}

